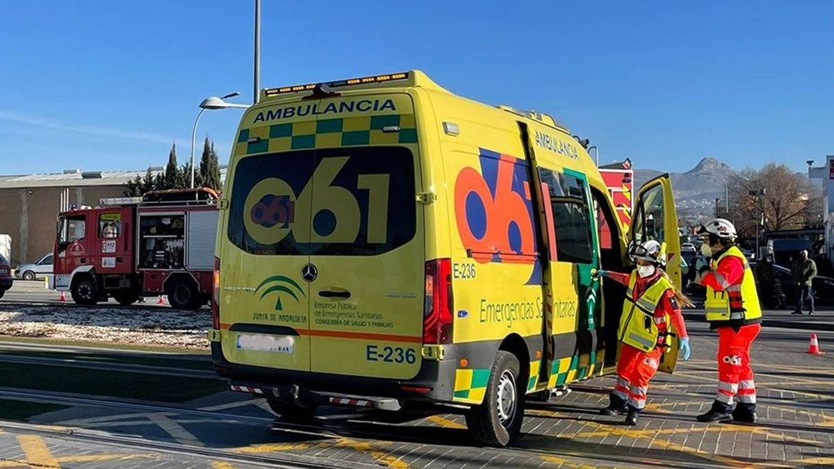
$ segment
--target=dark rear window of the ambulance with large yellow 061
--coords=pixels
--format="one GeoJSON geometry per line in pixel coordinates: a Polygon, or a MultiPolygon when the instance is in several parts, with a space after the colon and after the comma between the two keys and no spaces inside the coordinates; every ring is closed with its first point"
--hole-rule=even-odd
{"type": "Polygon", "coordinates": [[[379,255],[414,238],[404,147],[262,154],[234,169],[229,240],[254,255],[379,255]]]}

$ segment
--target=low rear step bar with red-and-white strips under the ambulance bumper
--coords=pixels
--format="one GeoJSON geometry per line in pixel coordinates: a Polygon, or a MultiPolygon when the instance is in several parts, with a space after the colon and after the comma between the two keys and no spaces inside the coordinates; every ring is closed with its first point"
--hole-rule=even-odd
{"type": "Polygon", "coordinates": [[[232,382],[231,391],[246,392],[256,397],[275,397],[305,406],[351,406],[366,407],[379,411],[399,411],[402,405],[393,397],[354,396],[333,392],[309,391],[299,386],[257,386],[232,382]]]}

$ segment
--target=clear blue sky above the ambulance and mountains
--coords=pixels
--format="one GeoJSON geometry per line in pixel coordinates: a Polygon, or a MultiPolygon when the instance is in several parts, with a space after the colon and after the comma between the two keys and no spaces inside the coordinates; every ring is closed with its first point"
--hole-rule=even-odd
{"type": "MultiPolygon", "coordinates": [[[[188,158],[197,104],[252,96],[252,3],[39,0],[0,15],[0,174],[188,158]]],[[[834,153],[834,3],[264,0],[264,87],[420,68],[551,113],[601,160],[803,169],[834,153]]],[[[240,116],[204,113],[221,159],[240,116]]]]}

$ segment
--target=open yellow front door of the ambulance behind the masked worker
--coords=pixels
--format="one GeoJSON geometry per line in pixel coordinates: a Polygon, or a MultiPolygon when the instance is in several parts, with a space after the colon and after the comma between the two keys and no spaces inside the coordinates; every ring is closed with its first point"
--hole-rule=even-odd
{"type": "MultiPolygon", "coordinates": [[[[641,186],[631,217],[628,240],[629,245],[647,240],[665,243],[666,274],[676,289],[682,289],[681,233],[678,230],[677,209],[669,174],[661,174],[641,186]]],[[[671,332],[674,334],[675,330],[671,328],[671,332]]],[[[675,370],[679,342],[677,335],[673,335],[669,348],[661,358],[659,371],[671,373],[675,370]]]]}

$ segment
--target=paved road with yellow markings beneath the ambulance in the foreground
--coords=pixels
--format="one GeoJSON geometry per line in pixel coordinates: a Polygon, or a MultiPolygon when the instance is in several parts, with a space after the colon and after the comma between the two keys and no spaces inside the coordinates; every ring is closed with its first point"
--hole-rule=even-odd
{"type": "Polygon", "coordinates": [[[610,377],[528,406],[516,446],[476,446],[461,416],[329,408],[310,425],[224,391],[208,356],[0,342],[0,466],[800,467],[834,465],[834,333],[766,327],[753,346],[756,425],[695,421],[715,395],[716,335],[659,375],[636,427],[600,416],[610,377]]]}

